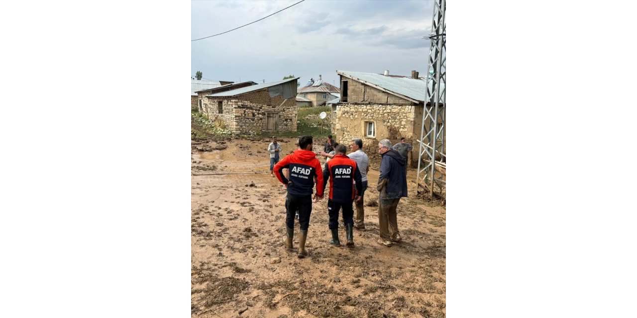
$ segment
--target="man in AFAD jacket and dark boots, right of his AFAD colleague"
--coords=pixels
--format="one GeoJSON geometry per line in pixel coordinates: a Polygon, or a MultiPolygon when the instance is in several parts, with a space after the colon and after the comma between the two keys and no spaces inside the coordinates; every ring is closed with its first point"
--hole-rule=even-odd
{"type": "Polygon", "coordinates": [[[354,160],[345,156],[347,147],[344,144],[336,146],[334,151],[336,153],[325,164],[323,171],[323,183],[327,185],[329,180],[327,214],[329,215],[329,230],[332,231],[332,240],[329,241],[329,244],[341,245],[340,240],[338,240],[338,211],[343,208],[347,245],[354,246],[354,209],[352,209],[352,203],[354,200],[361,200],[361,171],[354,160]],[[354,181],[356,181],[355,187],[354,181]]]}

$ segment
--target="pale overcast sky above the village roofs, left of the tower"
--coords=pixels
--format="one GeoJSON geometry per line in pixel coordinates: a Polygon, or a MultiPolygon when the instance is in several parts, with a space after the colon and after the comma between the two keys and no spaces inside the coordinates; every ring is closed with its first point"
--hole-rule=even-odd
{"type": "MultiPolygon", "coordinates": [[[[192,0],[191,39],[229,31],[299,0],[192,0]]],[[[336,70],[410,76],[427,69],[433,0],[306,0],[241,29],[191,42],[191,74],[224,81],[301,85],[336,70]]]]}

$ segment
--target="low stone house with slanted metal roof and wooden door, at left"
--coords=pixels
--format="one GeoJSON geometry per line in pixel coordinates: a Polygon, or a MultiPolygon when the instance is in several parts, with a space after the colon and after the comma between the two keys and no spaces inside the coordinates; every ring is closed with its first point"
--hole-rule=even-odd
{"type": "Polygon", "coordinates": [[[206,95],[203,114],[233,132],[296,132],[298,79],[206,95]]]}

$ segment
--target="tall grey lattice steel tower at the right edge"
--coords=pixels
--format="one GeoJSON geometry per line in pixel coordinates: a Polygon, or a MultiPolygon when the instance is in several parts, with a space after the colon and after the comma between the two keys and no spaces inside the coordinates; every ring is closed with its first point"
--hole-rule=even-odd
{"type": "Polygon", "coordinates": [[[416,182],[420,188],[434,189],[439,194],[446,190],[447,156],[445,155],[445,86],[447,73],[445,60],[445,0],[434,0],[434,17],[431,22],[429,61],[427,62],[427,86],[425,105],[420,128],[420,150],[416,182]]]}

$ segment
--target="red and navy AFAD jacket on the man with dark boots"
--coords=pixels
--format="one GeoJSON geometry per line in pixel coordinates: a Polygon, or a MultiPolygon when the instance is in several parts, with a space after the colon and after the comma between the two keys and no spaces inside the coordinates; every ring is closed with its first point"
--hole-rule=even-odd
{"type": "Polygon", "coordinates": [[[325,164],[325,170],[323,171],[324,187],[327,185],[328,180],[329,199],[334,202],[352,202],[355,195],[362,193],[361,171],[358,169],[356,162],[348,158],[348,156],[339,153],[325,164]],[[356,181],[355,187],[354,181],[356,181]]]}

